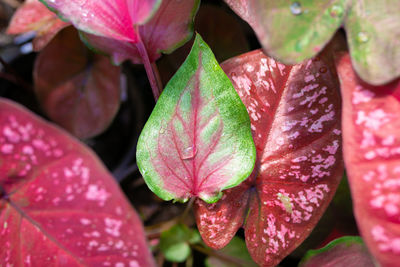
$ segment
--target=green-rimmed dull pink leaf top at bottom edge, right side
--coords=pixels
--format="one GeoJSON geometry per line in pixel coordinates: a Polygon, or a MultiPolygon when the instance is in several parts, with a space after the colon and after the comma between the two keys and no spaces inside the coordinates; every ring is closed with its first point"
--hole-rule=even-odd
{"type": "Polygon", "coordinates": [[[374,267],[367,247],[358,236],[338,238],[321,249],[310,250],[299,267],[374,267]]]}

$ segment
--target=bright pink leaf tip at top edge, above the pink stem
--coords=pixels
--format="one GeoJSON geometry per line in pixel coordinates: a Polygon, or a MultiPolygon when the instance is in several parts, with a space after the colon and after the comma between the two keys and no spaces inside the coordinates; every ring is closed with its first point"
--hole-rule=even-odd
{"type": "Polygon", "coordinates": [[[146,23],[161,0],[40,0],[77,29],[136,43],[136,25],[146,23]]]}

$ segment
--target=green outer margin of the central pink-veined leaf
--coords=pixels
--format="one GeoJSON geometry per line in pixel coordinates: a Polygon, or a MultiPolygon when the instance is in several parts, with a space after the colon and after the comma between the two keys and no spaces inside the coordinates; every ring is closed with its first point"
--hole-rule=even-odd
{"type": "MultiPolygon", "coordinates": [[[[253,137],[252,137],[252,133],[251,133],[251,129],[250,129],[250,118],[249,118],[249,115],[247,113],[246,106],[243,104],[242,100],[240,99],[239,95],[237,94],[237,92],[236,92],[235,88],[233,87],[233,84],[230,81],[230,79],[228,78],[228,76],[225,74],[225,72],[219,66],[219,64],[218,64],[217,60],[215,59],[215,56],[212,53],[210,47],[204,42],[204,40],[201,38],[201,36],[198,33],[196,33],[196,38],[194,40],[194,43],[193,43],[193,46],[192,46],[192,49],[191,49],[189,55],[187,56],[187,58],[185,59],[185,61],[181,65],[181,67],[178,69],[178,71],[175,73],[175,75],[170,79],[168,84],[165,86],[164,91],[161,93],[158,101],[163,100],[164,98],[167,99],[168,96],[165,93],[167,91],[167,89],[169,87],[174,87],[174,85],[176,83],[179,84],[179,81],[178,81],[180,79],[179,76],[180,75],[185,75],[186,70],[184,69],[184,67],[187,64],[189,64],[190,61],[192,61],[192,59],[191,59],[192,58],[192,56],[191,56],[192,53],[195,52],[194,50],[196,49],[196,47],[201,47],[201,46],[203,47],[203,51],[202,51],[203,52],[203,58],[204,58],[204,55],[208,54],[208,56],[210,57],[210,60],[214,62],[214,66],[213,66],[214,67],[214,71],[215,71],[214,74],[215,73],[219,73],[217,75],[221,75],[221,77],[224,77],[223,79],[225,79],[225,81],[228,84],[230,84],[231,89],[232,89],[231,90],[232,98],[235,99],[238,102],[237,103],[238,107],[240,106],[240,109],[243,109],[243,111],[244,111],[244,113],[243,112],[237,112],[237,113],[239,113],[239,114],[243,113],[243,115],[246,115],[246,118],[243,118],[243,121],[246,122],[245,126],[246,126],[246,129],[247,129],[247,135],[248,135],[248,138],[246,138],[246,140],[248,141],[246,146],[248,148],[248,155],[249,155],[248,157],[251,160],[251,168],[249,168],[249,170],[247,172],[245,172],[244,175],[242,175],[241,177],[238,177],[236,181],[231,181],[231,183],[229,185],[227,185],[226,187],[222,188],[221,191],[216,196],[208,197],[208,198],[201,198],[200,197],[202,200],[204,200],[207,203],[215,203],[222,197],[222,195],[223,195],[222,191],[223,190],[226,190],[226,189],[229,189],[229,188],[232,188],[232,187],[235,187],[235,186],[239,185],[241,182],[243,182],[246,178],[248,178],[250,176],[250,174],[252,173],[252,171],[254,169],[255,162],[256,162],[256,147],[255,147],[255,144],[254,144],[254,141],[253,141],[253,137]]],[[[200,48],[199,48],[199,50],[200,50],[200,48]]],[[[162,102],[164,102],[164,101],[162,101],[162,102]]],[[[217,104],[218,104],[218,101],[217,101],[217,104]]],[[[158,197],[160,197],[161,199],[163,199],[165,201],[173,200],[174,202],[177,201],[177,202],[184,203],[184,202],[188,201],[188,198],[186,198],[186,199],[175,198],[175,196],[172,193],[162,189],[162,185],[163,185],[163,181],[162,180],[158,180],[158,181],[157,180],[153,180],[150,177],[150,175],[146,174],[145,166],[144,166],[144,165],[147,165],[146,163],[144,163],[144,162],[146,162],[146,160],[142,160],[142,158],[145,158],[145,159],[148,158],[146,155],[143,155],[143,154],[148,154],[147,152],[145,152],[145,153],[141,152],[142,150],[146,151],[146,149],[142,149],[141,148],[142,147],[141,144],[145,142],[145,140],[143,140],[145,138],[143,133],[145,132],[145,129],[147,127],[149,127],[149,121],[154,120],[153,117],[156,117],[157,113],[161,113],[162,110],[163,110],[163,106],[160,107],[159,105],[158,106],[156,105],[156,107],[153,109],[153,112],[151,113],[149,119],[147,120],[145,126],[143,127],[142,133],[140,134],[139,139],[138,139],[138,145],[137,145],[137,149],[136,149],[137,165],[138,165],[140,173],[143,176],[144,181],[146,182],[147,186],[149,187],[149,189],[153,193],[155,193],[158,197]],[[158,111],[158,110],[160,110],[160,111],[158,111]],[[160,186],[157,185],[157,182],[159,182],[160,186]]],[[[150,168],[150,169],[152,169],[152,168],[150,168]]],[[[154,172],[154,170],[152,170],[152,171],[154,172]]],[[[154,172],[154,173],[156,173],[156,172],[154,172]]],[[[155,176],[158,176],[158,175],[156,174],[155,176]]]]}

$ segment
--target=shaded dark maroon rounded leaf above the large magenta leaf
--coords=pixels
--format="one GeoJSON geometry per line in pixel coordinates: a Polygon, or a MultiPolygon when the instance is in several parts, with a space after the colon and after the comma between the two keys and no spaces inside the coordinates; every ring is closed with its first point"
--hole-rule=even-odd
{"type": "Polygon", "coordinates": [[[86,48],[69,27],[37,57],[35,91],[53,121],[79,138],[88,138],[103,132],[118,111],[120,72],[109,58],[86,48]]]}

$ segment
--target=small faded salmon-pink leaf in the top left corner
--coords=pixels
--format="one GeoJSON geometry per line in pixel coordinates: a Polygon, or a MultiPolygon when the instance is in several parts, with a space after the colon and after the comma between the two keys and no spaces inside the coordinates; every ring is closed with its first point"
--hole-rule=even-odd
{"type": "Polygon", "coordinates": [[[48,10],[39,0],[27,0],[15,12],[7,33],[22,34],[35,31],[36,37],[33,40],[33,49],[40,51],[61,29],[68,25],[69,23],[60,20],[56,14],[48,10]]]}

